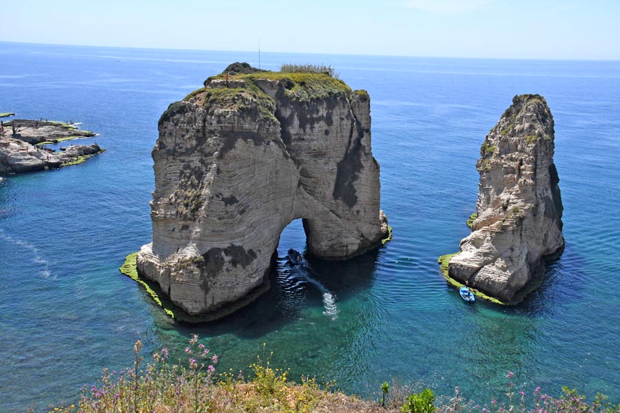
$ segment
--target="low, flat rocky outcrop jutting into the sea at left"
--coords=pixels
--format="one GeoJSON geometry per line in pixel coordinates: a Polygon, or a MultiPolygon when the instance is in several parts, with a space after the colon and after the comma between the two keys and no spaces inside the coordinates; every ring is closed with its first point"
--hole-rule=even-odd
{"type": "Polygon", "coordinates": [[[45,145],[65,140],[90,138],[94,132],[78,129],[74,123],[14,119],[0,124],[0,175],[77,165],[105,151],[91,145],[70,145],[54,151],[45,145]]]}

